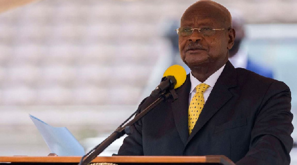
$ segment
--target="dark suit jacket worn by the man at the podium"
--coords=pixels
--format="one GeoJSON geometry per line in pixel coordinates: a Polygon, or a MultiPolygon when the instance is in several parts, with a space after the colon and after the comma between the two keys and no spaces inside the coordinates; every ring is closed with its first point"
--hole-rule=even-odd
{"type": "MultiPolygon", "coordinates": [[[[162,102],[134,127],[118,155],[225,155],[237,165],[289,165],[293,147],[291,92],[228,61],[189,136],[191,82],[176,89],[178,100],[162,102]]],[[[146,108],[155,98],[147,97],[146,108]]]]}

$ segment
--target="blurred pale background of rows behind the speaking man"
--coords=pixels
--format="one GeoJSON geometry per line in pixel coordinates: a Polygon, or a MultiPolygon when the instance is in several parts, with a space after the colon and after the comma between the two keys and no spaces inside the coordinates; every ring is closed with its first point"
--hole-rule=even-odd
{"type": "MultiPolygon", "coordinates": [[[[0,155],[50,153],[29,114],[66,126],[86,151],[99,144],[180,64],[174,30],[195,1],[39,0],[0,13],[0,155]]],[[[241,48],[290,86],[296,115],[297,1],[215,1],[242,13],[241,48]]]]}

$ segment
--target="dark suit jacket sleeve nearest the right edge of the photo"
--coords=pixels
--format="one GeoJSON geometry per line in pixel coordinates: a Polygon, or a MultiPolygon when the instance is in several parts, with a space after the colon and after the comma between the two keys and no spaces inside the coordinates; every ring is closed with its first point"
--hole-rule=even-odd
{"type": "Polygon", "coordinates": [[[290,165],[294,127],[289,87],[273,82],[255,115],[249,151],[236,165],[290,165]]]}

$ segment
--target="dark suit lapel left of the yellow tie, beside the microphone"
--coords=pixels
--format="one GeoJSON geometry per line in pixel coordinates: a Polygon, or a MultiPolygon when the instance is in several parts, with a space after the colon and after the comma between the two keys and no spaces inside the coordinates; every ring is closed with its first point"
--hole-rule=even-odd
{"type": "Polygon", "coordinates": [[[189,138],[188,106],[189,106],[190,89],[191,89],[190,76],[187,75],[187,80],[184,83],[184,85],[176,89],[178,100],[174,101],[171,104],[174,123],[184,145],[186,145],[187,140],[189,138]]]}

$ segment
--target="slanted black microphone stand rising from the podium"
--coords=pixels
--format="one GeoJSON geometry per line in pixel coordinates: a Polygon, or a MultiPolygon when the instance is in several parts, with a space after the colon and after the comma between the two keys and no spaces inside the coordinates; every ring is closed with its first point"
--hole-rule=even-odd
{"type": "MultiPolygon", "coordinates": [[[[173,84],[174,86],[175,84],[173,84]]],[[[132,134],[133,130],[131,126],[143,118],[150,110],[152,110],[155,106],[160,104],[162,101],[167,101],[171,98],[172,102],[177,100],[177,94],[171,86],[171,89],[163,91],[159,98],[156,99],[153,103],[151,103],[146,109],[144,109],[141,113],[135,116],[133,120],[129,123],[125,124],[124,126],[119,126],[111,135],[109,135],[105,140],[103,140],[99,145],[97,145],[94,149],[92,149],[88,154],[82,157],[79,165],[88,165],[92,160],[94,160],[105,148],[107,148],[112,142],[116,139],[122,137],[124,134],[132,134]]],[[[134,114],[133,114],[134,115],[134,114]]],[[[133,116],[132,115],[132,116],[133,116]]],[[[131,116],[131,117],[132,117],[131,116]]],[[[129,119],[128,119],[129,120],[129,119]]],[[[126,121],[128,121],[126,120],[126,121]]],[[[125,122],[126,123],[126,122],[125,122]]]]}

